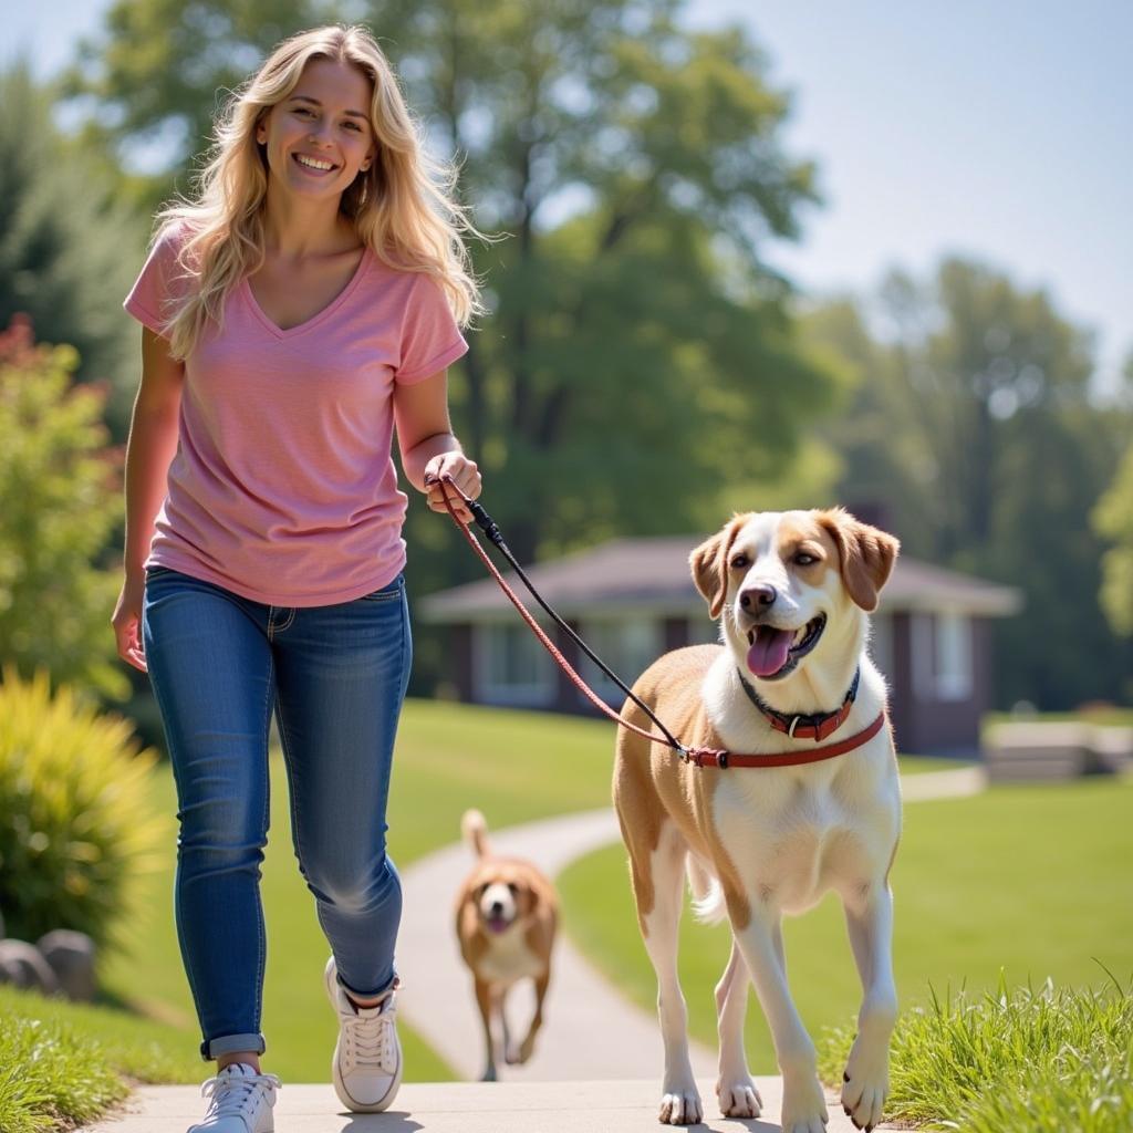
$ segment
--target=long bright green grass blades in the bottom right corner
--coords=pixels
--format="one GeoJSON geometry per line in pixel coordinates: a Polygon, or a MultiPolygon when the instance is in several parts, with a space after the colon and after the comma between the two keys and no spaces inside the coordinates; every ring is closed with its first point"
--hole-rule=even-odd
{"type": "MultiPolygon", "coordinates": [[[[1100,973],[1099,973],[1100,974],[1100,973]]],[[[837,1081],[853,1030],[819,1045],[837,1081]]],[[[1133,1128],[1133,996],[1102,990],[1008,990],[906,1012],[894,1033],[889,1121],[963,1133],[1127,1133],[1133,1128]]]]}

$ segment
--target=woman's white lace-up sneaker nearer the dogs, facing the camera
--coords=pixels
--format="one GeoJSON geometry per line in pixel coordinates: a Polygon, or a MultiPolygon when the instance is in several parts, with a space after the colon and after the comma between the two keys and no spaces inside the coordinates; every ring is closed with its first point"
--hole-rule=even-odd
{"type": "Polygon", "coordinates": [[[326,994],[339,1016],[331,1074],[334,1092],[356,1114],[389,1109],[401,1085],[401,1043],[398,1041],[397,985],[375,1007],[357,1007],[339,983],[334,957],[324,972],[326,994]]]}

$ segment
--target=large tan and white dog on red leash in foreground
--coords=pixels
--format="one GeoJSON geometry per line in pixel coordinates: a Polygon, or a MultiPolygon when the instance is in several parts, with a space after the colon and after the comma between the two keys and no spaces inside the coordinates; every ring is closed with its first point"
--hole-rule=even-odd
{"type": "MultiPolygon", "coordinates": [[[[633,691],[687,747],[777,753],[868,730],[886,693],[866,651],[867,613],[877,607],[896,554],[896,539],[841,509],[736,516],[690,557],[697,588],[719,619],[723,647],[666,654],[633,691]],[[851,699],[838,724],[834,714],[851,699]],[[826,717],[820,731],[835,730],[828,740],[816,739],[815,725],[826,717]]],[[[650,727],[631,701],[623,715],[650,727]]],[[[732,954],[716,987],[716,1093],[724,1116],[758,1117],[763,1105],[743,1049],[750,973],[783,1074],[784,1133],[823,1133],[826,1100],[813,1043],[791,1002],[781,920],[833,888],[863,988],[842,1105],[857,1126],[876,1125],[897,1010],[888,875],[901,796],[889,729],[833,759],[726,769],[682,763],[670,748],[619,729],[614,803],[657,972],[665,1043],[661,1121],[702,1118],[676,973],[688,870],[701,919],[726,914],[732,927],[732,954]]]]}

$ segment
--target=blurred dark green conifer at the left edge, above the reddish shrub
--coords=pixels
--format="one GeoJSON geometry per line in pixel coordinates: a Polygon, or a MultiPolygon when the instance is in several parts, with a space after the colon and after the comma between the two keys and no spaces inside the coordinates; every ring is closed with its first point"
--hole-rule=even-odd
{"type": "Polygon", "coordinates": [[[82,381],[111,383],[109,417],[125,437],[136,387],[137,338],[121,300],[145,222],[116,203],[112,184],[52,119],[26,61],[0,74],[0,326],[26,314],[49,342],[75,347],[82,381]]]}

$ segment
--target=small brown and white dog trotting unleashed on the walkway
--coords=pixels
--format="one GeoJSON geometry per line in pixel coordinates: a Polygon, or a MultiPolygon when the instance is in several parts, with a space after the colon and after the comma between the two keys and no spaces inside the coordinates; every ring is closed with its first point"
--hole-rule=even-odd
{"type": "Polygon", "coordinates": [[[535,1049],[551,982],[559,897],[551,881],[530,862],[492,857],[487,826],[478,810],[465,812],[460,829],[477,863],[457,898],[457,938],[460,954],[472,972],[476,1003],[484,1021],[487,1060],[483,1081],[494,1082],[494,1020],[499,1021],[503,1058],[509,1066],[526,1063],[535,1049]],[[535,1014],[527,1038],[516,1047],[508,1034],[504,998],[522,979],[535,981],[535,1014]]]}

